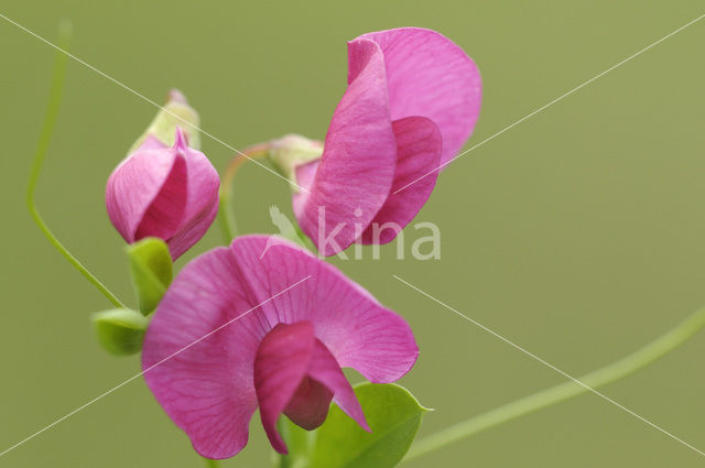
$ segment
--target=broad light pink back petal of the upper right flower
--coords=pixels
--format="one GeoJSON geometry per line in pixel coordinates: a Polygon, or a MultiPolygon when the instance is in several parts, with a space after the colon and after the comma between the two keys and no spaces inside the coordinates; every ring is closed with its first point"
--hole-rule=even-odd
{"type": "MultiPolygon", "coordinates": [[[[443,134],[441,164],[468,139],[479,116],[481,79],[473,59],[444,35],[421,28],[364,34],[349,43],[373,41],[384,55],[392,120],[426,117],[443,134]]],[[[348,81],[357,67],[349,59],[348,81]]]]}

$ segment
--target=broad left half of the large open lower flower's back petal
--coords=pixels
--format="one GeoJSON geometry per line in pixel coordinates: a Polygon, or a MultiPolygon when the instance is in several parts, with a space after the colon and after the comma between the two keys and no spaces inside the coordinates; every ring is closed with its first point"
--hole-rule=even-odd
{"type": "Polygon", "coordinates": [[[252,309],[258,302],[243,276],[227,248],[189,262],[144,338],[147,384],[208,458],[228,458],[245,447],[257,409],[252,363],[269,326],[252,309]]]}

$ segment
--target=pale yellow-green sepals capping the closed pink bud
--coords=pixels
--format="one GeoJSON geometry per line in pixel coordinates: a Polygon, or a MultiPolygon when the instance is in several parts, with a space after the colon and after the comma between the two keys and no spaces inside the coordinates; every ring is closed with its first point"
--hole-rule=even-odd
{"type": "Polygon", "coordinates": [[[181,91],[172,89],[169,92],[169,101],[162,107],[156,117],[154,117],[154,120],[152,120],[144,133],[132,144],[130,151],[128,151],[128,155],[140,148],[150,134],[165,145],[173,146],[176,137],[176,127],[183,130],[188,140],[189,148],[200,150],[199,126],[200,118],[198,117],[198,112],[188,105],[188,101],[186,101],[186,98],[181,91]]]}

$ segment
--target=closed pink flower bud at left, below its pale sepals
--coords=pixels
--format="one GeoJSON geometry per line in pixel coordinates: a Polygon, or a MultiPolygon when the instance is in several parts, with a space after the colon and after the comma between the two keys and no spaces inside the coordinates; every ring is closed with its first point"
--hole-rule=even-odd
{"type": "Polygon", "coordinates": [[[163,239],[176,260],[208,230],[218,211],[218,173],[188,148],[181,129],[167,148],[150,135],[108,178],[108,216],[122,238],[163,239]]]}

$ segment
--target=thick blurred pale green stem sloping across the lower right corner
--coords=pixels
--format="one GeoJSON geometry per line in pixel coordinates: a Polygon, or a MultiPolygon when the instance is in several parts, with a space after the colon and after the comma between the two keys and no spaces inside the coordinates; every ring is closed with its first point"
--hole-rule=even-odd
{"type": "Polygon", "coordinates": [[[677,348],[703,327],[705,327],[705,307],[698,309],[675,328],[636,352],[578,378],[577,380],[582,382],[583,385],[572,380],[560,383],[455,424],[436,434],[420,439],[413,445],[404,458],[404,461],[437,450],[490,427],[589,392],[589,389],[596,390],[622,379],[677,348]]]}

